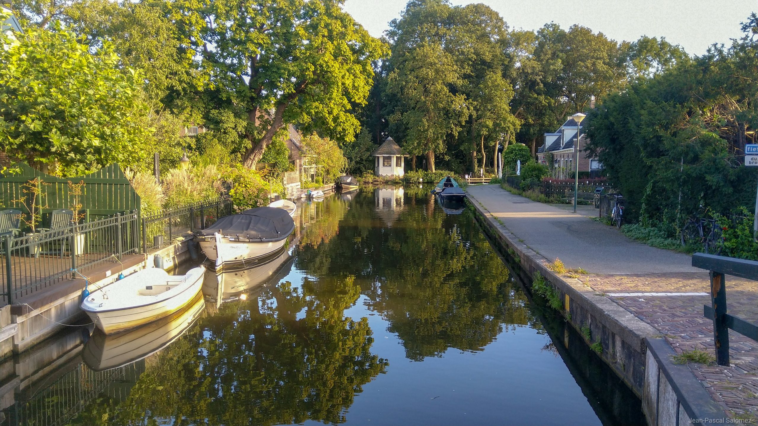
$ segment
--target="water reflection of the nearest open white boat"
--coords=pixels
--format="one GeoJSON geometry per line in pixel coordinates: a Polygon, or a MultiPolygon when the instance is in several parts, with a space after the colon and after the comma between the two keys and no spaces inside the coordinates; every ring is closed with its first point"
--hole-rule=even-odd
{"type": "Polygon", "coordinates": [[[107,335],[95,329],[82,351],[82,359],[92,370],[118,368],[151,356],[177,340],[205,309],[205,299],[197,295],[185,309],[124,333],[107,335]]]}

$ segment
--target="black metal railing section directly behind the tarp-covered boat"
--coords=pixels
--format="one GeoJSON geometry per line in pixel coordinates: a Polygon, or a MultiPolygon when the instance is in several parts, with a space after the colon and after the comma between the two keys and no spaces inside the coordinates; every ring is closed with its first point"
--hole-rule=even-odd
{"type": "Polygon", "coordinates": [[[180,208],[158,211],[153,215],[143,215],[143,252],[152,252],[192,236],[213,224],[218,218],[232,214],[229,196],[220,196],[203,202],[196,202],[180,208]]]}

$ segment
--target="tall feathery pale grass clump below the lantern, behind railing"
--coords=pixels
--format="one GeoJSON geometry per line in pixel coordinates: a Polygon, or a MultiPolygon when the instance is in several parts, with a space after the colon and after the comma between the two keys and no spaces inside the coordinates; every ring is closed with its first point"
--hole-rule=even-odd
{"type": "Polygon", "coordinates": [[[163,178],[164,208],[211,199],[221,191],[221,178],[215,166],[175,168],[163,178]]]}

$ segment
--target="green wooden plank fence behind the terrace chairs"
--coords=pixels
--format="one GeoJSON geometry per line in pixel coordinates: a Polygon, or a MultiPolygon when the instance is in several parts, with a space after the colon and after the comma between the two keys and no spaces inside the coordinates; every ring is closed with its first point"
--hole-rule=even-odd
{"type": "Polygon", "coordinates": [[[139,210],[139,196],[118,164],[111,164],[82,177],[55,177],[21,164],[20,173],[0,177],[0,208],[17,208],[28,214],[27,205],[18,200],[27,196],[22,186],[36,177],[45,183],[42,185],[44,196],[40,203],[43,215],[58,208],[72,208],[74,197],[69,193],[69,183],[82,181],[85,185],[79,203],[83,205],[83,213],[88,216],[86,221],[139,210]]]}

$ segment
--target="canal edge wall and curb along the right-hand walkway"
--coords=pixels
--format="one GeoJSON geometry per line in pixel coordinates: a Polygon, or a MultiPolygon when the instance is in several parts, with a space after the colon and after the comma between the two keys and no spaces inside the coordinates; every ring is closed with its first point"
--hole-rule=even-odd
{"type": "Polygon", "coordinates": [[[598,356],[641,397],[650,426],[728,422],[722,406],[713,400],[694,373],[686,365],[672,362],[675,352],[658,330],[607,296],[584,286],[581,280],[550,271],[549,259],[522,243],[468,191],[466,195],[475,208],[475,217],[486,225],[485,230],[490,230],[500,249],[515,252],[518,255],[515,260],[528,277],[533,278],[539,272],[558,291],[561,300],[565,299],[564,309],[560,310],[565,320],[580,334],[584,334],[582,328],[589,328],[587,345],[591,340],[600,342],[602,349],[598,356]],[[595,339],[596,336],[600,338],[595,339]]]}

